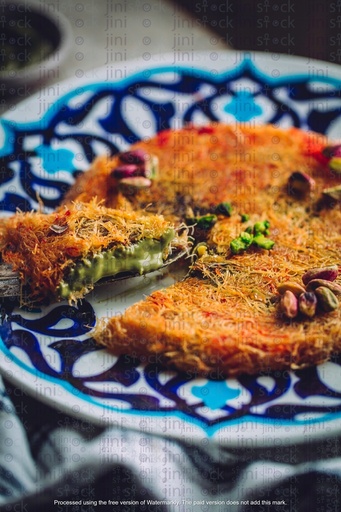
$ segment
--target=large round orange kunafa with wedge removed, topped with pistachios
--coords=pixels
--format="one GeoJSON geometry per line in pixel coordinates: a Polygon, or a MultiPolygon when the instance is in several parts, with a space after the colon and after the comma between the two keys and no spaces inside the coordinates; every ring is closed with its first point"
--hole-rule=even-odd
{"type": "MultiPolygon", "coordinates": [[[[159,172],[125,199],[164,205],[192,226],[191,272],[107,318],[99,343],[217,378],[303,368],[339,352],[341,146],[296,128],[212,125],[167,131],[141,148],[159,172]]],[[[105,165],[80,179],[82,194],[95,174],[113,179],[117,160],[105,165]]]]}

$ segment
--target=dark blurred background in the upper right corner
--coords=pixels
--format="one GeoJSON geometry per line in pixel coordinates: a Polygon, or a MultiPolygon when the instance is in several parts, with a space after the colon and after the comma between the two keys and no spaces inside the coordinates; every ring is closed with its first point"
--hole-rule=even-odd
{"type": "Polygon", "coordinates": [[[341,63],[341,0],[178,0],[237,50],[341,63]]]}

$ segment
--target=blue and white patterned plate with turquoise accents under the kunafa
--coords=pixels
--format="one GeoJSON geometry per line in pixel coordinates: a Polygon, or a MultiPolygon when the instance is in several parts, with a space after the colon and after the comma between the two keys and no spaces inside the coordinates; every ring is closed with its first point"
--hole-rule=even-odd
{"type": "MultiPolygon", "coordinates": [[[[166,128],[209,121],[276,123],[341,137],[341,71],[325,62],[240,52],[153,56],[46,88],[1,120],[0,207],[55,208],[80,172],[166,128]]],[[[98,347],[91,332],[156,288],[169,272],[102,286],[77,306],[8,306],[0,369],[70,414],[229,446],[300,442],[341,427],[341,360],[226,381],[190,379],[157,361],[98,347]]]]}

